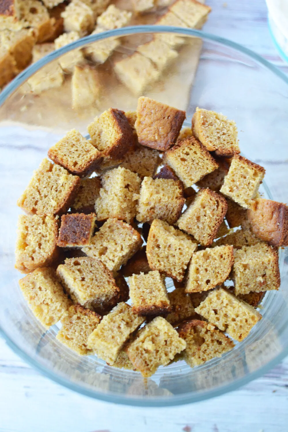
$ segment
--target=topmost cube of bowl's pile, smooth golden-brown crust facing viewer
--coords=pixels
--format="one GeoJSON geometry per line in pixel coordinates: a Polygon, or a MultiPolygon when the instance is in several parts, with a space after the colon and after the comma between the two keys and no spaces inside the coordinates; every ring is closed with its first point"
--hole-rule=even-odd
{"type": "Polygon", "coordinates": [[[185,111],[140,97],[135,123],[139,143],[156,150],[168,150],[176,142],[185,118],[185,111]]]}

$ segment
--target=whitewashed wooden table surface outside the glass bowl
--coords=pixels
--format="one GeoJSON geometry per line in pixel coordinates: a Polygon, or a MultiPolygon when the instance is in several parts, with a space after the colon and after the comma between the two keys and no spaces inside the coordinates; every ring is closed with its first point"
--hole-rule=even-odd
{"type": "MultiPolygon", "coordinates": [[[[245,45],[287,73],[269,35],[264,0],[207,3],[213,9],[207,32],[245,45]]],[[[273,161],[269,167],[279,172],[278,187],[285,186],[287,164],[273,161]]],[[[287,404],[288,359],[222,397],[183,407],[142,409],[69,391],[39,375],[0,340],[0,432],[285,432],[287,404]]]]}

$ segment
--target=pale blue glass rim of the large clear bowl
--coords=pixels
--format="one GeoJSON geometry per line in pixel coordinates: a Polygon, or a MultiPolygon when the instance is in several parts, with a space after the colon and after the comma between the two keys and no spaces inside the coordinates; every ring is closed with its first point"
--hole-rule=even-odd
{"type": "MultiPolygon", "coordinates": [[[[94,42],[100,41],[109,37],[120,37],[127,36],[133,34],[145,34],[145,33],[177,33],[180,35],[187,36],[196,36],[202,38],[207,41],[216,42],[218,44],[225,45],[229,48],[233,48],[235,51],[239,51],[245,54],[247,57],[251,57],[254,61],[261,64],[266,69],[270,70],[276,76],[278,76],[282,81],[284,81],[288,85],[288,76],[285,75],[278,67],[271,64],[268,60],[261,57],[259,54],[256,54],[254,51],[245,48],[241,44],[237,44],[236,42],[230,41],[229,39],[222,38],[211,33],[206,33],[201,30],[194,29],[186,29],[181,27],[170,27],[170,26],[160,26],[160,25],[137,25],[137,26],[129,26],[124,27],[122,29],[114,29],[106,32],[98,33],[95,35],[89,35],[85,38],[80,38],[77,41],[74,41],[70,44],[65,45],[64,47],[53,51],[42,59],[38,60],[34,64],[31,64],[28,68],[22,71],[16,78],[13,79],[11,83],[9,83],[5,89],[0,93],[0,106],[4,104],[6,99],[22,85],[30,76],[34,73],[38,72],[43,66],[50,63],[53,60],[56,60],[63,54],[66,54],[69,51],[72,51],[76,48],[82,48],[84,45],[94,42]]],[[[207,400],[212,397],[221,396],[222,394],[228,393],[230,391],[237,390],[245,384],[248,384],[250,381],[259,378],[268,372],[271,368],[281,362],[288,355],[288,346],[283,349],[282,353],[276,356],[274,359],[270,360],[266,365],[257,369],[256,371],[250,372],[243,378],[238,378],[233,383],[223,385],[222,387],[215,390],[203,391],[200,394],[186,393],[184,395],[173,395],[171,397],[149,397],[149,398],[141,398],[141,397],[127,397],[126,395],[115,395],[115,394],[105,394],[96,390],[90,390],[88,388],[84,388],[79,384],[71,383],[69,380],[61,377],[60,375],[55,375],[50,369],[46,368],[44,365],[36,362],[32,357],[22,351],[16,343],[4,332],[4,330],[0,327],[0,336],[6,341],[9,348],[11,348],[14,353],[16,353],[20,358],[22,358],[28,365],[35,368],[37,371],[41,372],[42,375],[50,378],[52,381],[57,384],[61,384],[64,387],[73,390],[79,394],[83,394],[85,396],[92,397],[94,399],[103,400],[106,402],[118,403],[122,405],[136,406],[136,407],[168,407],[168,406],[177,406],[183,405],[187,403],[200,402],[202,400],[207,400]]]]}

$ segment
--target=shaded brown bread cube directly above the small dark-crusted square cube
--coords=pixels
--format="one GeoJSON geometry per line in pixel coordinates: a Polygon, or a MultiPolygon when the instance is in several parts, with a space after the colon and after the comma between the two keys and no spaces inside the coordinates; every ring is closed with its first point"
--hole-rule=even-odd
{"type": "Polygon", "coordinates": [[[74,202],[71,204],[71,210],[77,213],[93,213],[100,189],[101,180],[99,177],[82,178],[80,180],[79,191],[76,194],[74,202]]]}

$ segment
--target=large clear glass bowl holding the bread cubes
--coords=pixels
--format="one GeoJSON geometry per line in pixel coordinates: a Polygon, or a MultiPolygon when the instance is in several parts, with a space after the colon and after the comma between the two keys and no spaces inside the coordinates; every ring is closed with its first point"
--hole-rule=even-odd
{"type": "Polygon", "coordinates": [[[138,372],[110,367],[95,356],[73,353],[55,339],[57,325],[45,331],[22,297],[18,285],[21,274],[14,269],[16,222],[21,213],[16,206],[18,197],[47,149],[67,130],[75,127],[86,134],[87,124],[110,106],[124,111],[136,108],[139,94],[131,92],[130,82],[126,81],[128,89],[117,78],[114,64],[156,34],[178,36],[182,40],[177,58],[157,81],[146,83],[144,95],[186,109],[188,126],[197,106],[234,119],[241,151],[266,167],[261,192],[286,202],[287,172],[281,161],[288,159],[288,78],[257,54],[231,41],[196,30],[157,26],[104,32],[78,40],[32,64],[0,94],[1,334],[19,356],[57,383],[101,400],[146,407],[190,403],[235,390],[288,354],[285,248],[279,254],[281,288],[266,293],[260,306],[263,319],[242,343],[237,343],[221,359],[195,368],[182,361],[171,363],[160,367],[149,379],[143,379],[138,372]],[[97,106],[72,108],[69,76],[62,87],[39,95],[27,89],[29,77],[39,70],[43,72],[42,68],[51,66],[51,62],[56,65],[57,58],[68,51],[116,37],[121,44],[97,67],[103,86],[97,106]]]}

